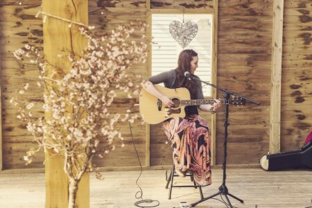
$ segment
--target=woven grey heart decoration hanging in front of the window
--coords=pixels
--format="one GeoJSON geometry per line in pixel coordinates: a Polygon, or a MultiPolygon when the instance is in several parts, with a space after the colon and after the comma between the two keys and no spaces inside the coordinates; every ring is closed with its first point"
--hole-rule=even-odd
{"type": "Polygon", "coordinates": [[[193,21],[180,22],[171,21],[169,24],[169,32],[173,39],[184,49],[196,36],[198,25],[193,21]]]}

